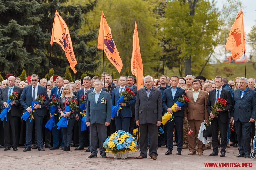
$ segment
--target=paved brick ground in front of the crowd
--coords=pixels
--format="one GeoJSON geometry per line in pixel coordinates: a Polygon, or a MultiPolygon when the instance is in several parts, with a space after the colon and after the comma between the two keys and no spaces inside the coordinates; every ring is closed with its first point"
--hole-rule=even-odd
{"type": "MultiPolygon", "coordinates": [[[[182,155],[176,155],[176,147],[174,147],[172,155],[165,155],[167,149],[160,147],[158,149],[157,160],[152,160],[149,156],[147,159],[136,160],[134,157],[139,156],[139,151],[129,153],[128,159],[114,159],[111,153],[107,153],[108,158],[103,159],[87,158],[90,153],[84,151],[72,151],[64,152],[62,150],[49,150],[45,149],[45,152],[37,151],[37,149],[31,149],[29,152],[23,152],[24,147],[19,147],[18,151],[13,151],[12,148],[9,151],[0,150],[0,169],[85,169],[85,170],[98,170],[98,169],[120,169],[120,170],[140,170],[140,169],[212,169],[205,168],[205,162],[233,162],[252,163],[252,169],[256,168],[256,159],[251,158],[236,158],[238,154],[237,148],[227,148],[226,157],[213,156],[209,154],[212,150],[205,150],[202,156],[188,155],[189,150],[183,149],[182,155]]],[[[213,168],[213,169],[245,169],[245,168],[213,168]]],[[[247,169],[247,168],[246,168],[247,169]]]]}

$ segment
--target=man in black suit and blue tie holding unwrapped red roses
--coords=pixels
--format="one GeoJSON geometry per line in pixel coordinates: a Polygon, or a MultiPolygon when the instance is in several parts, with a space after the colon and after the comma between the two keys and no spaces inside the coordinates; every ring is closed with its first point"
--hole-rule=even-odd
{"type": "Polygon", "coordinates": [[[219,153],[218,146],[218,136],[219,136],[219,129],[220,129],[220,136],[221,136],[221,157],[224,157],[226,155],[226,147],[227,147],[227,123],[228,123],[228,110],[232,108],[232,97],[228,90],[222,88],[222,77],[216,76],[214,79],[214,84],[216,89],[211,90],[209,92],[209,97],[207,101],[207,111],[211,118],[214,118],[211,121],[212,125],[212,147],[213,152],[210,154],[210,156],[216,156],[219,153]],[[225,110],[222,110],[220,108],[216,108],[215,110],[220,112],[218,117],[215,117],[214,114],[212,114],[212,107],[216,103],[218,97],[223,98],[227,101],[227,106],[225,110]]]}

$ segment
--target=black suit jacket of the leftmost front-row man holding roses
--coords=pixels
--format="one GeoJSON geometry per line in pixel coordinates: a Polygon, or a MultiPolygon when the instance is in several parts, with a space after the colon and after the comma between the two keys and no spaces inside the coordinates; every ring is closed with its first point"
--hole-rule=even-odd
{"type": "MultiPolygon", "coordinates": [[[[8,93],[9,93],[8,88],[9,88],[9,86],[2,88],[2,90],[0,91],[0,105],[2,106],[2,111],[3,111],[4,102],[7,102],[7,100],[8,100],[8,93]]],[[[20,96],[22,94],[22,88],[20,88],[18,86],[14,86],[13,92],[18,92],[19,96],[18,96],[17,100],[15,101],[16,104],[11,106],[10,113],[11,113],[11,116],[21,117],[22,109],[20,106],[20,96]]]]}

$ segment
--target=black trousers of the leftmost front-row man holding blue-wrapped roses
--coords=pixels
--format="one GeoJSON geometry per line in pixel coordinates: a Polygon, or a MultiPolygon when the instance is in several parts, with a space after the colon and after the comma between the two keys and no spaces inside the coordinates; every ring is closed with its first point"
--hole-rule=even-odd
{"type": "Polygon", "coordinates": [[[17,147],[19,144],[19,129],[20,129],[20,117],[11,116],[7,113],[7,121],[3,121],[4,124],[4,139],[5,146],[17,147]],[[11,142],[12,141],[12,142],[11,142]]]}

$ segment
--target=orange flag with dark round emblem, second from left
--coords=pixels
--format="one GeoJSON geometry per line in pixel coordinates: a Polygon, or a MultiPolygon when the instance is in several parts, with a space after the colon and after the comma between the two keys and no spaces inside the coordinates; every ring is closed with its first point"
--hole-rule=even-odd
{"type": "Polygon", "coordinates": [[[102,49],[105,52],[108,60],[116,67],[117,71],[120,73],[123,68],[123,63],[119,56],[115,42],[112,39],[111,30],[108,26],[103,11],[99,26],[98,49],[102,49]]]}

